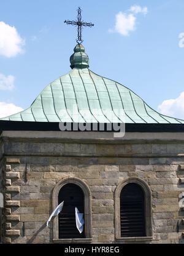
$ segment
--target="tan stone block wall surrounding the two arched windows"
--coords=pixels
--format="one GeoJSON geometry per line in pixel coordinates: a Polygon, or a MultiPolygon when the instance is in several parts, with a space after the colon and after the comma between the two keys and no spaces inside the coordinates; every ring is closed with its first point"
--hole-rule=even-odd
{"type": "MultiPolygon", "coordinates": [[[[26,139],[25,139],[26,140],[26,139]]],[[[142,178],[152,191],[153,240],[184,243],[184,143],[4,140],[6,239],[9,243],[52,242],[45,222],[52,191],[66,177],[91,191],[93,242],[115,242],[114,192],[128,177],[142,178]]]]}

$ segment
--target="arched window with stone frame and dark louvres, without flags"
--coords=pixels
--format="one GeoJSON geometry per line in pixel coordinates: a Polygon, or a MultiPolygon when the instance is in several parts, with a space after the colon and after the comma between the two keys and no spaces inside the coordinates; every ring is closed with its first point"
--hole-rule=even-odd
{"type": "Polygon", "coordinates": [[[115,238],[148,241],[152,236],[151,190],[141,178],[126,178],[115,190],[115,238]]]}

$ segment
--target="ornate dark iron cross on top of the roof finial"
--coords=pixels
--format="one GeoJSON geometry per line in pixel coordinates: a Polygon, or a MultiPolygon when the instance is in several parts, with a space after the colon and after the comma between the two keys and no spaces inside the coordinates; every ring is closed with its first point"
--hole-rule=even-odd
{"type": "Polygon", "coordinates": [[[88,22],[83,22],[82,20],[82,10],[80,9],[77,9],[77,12],[78,12],[78,15],[77,15],[77,20],[65,20],[64,23],[66,23],[67,25],[75,25],[75,26],[78,26],[77,28],[77,33],[78,33],[78,36],[77,36],[77,39],[76,41],[78,42],[78,44],[81,44],[83,42],[82,40],[82,26],[94,26],[93,23],[88,23],[88,22]]]}

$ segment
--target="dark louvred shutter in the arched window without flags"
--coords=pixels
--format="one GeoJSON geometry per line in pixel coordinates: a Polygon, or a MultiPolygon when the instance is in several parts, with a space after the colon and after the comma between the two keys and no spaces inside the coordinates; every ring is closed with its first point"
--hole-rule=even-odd
{"type": "Polygon", "coordinates": [[[145,236],[144,192],[136,183],[129,183],[120,195],[121,237],[145,236]]]}

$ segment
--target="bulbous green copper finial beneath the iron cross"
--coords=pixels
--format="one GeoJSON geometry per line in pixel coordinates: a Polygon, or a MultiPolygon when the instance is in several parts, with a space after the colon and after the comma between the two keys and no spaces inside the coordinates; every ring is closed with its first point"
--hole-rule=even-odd
{"type": "Polygon", "coordinates": [[[89,58],[85,54],[85,47],[82,44],[77,44],[74,48],[74,54],[70,58],[71,68],[89,68],[89,58]]]}

